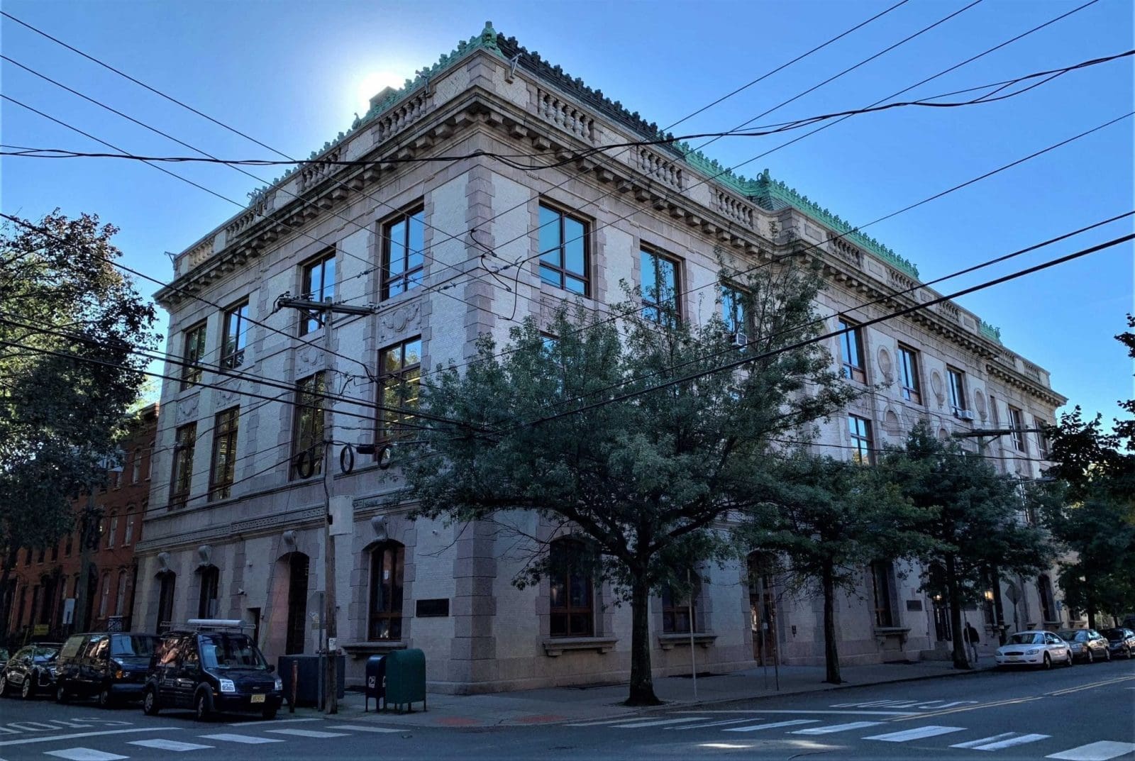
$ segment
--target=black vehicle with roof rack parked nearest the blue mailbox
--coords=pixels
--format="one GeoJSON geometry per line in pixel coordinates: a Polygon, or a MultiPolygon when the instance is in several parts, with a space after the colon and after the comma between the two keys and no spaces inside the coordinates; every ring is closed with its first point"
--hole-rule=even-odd
{"type": "Polygon", "coordinates": [[[284,702],[284,685],[239,624],[191,622],[199,628],[161,635],[142,710],[154,716],[163,708],[188,708],[202,721],[217,712],[274,718],[284,702]]]}

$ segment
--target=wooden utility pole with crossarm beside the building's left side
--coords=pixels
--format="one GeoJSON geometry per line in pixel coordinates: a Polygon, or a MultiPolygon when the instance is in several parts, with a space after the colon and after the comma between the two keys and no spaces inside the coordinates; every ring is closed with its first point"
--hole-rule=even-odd
{"type": "MultiPolygon", "coordinates": [[[[322,314],[323,323],[323,350],[327,353],[328,363],[331,356],[331,315],[333,314],[354,314],[354,315],[367,315],[373,314],[373,310],[369,306],[347,306],[346,304],[335,304],[334,302],[316,302],[310,298],[288,298],[281,297],[276,299],[276,305],[278,307],[291,307],[300,310],[304,313],[319,312],[322,314]]],[[[335,492],[335,475],[331,473],[331,451],[334,448],[335,436],[334,436],[334,420],[331,416],[330,405],[326,400],[327,383],[329,381],[325,379],[322,394],[325,396],[322,400],[323,407],[323,631],[326,632],[327,640],[325,642],[323,651],[326,653],[325,666],[325,708],[323,711],[328,716],[339,712],[339,671],[338,671],[338,658],[336,658],[335,652],[338,650],[338,627],[336,622],[336,602],[335,602],[335,536],[331,533],[331,496],[335,492]]]]}

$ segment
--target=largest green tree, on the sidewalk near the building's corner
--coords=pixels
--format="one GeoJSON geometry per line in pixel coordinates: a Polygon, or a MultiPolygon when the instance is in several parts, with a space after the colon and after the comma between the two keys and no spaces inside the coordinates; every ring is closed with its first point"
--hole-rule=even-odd
{"type": "MultiPolygon", "coordinates": [[[[661,280],[661,279],[659,279],[661,280]]],[[[722,559],[715,529],[763,499],[773,439],[841,408],[850,398],[818,343],[815,270],[758,270],[728,294],[753,336],[733,346],[718,316],[679,318],[658,282],[648,306],[613,308],[620,324],[582,307],[545,330],[528,320],[495,355],[482,338],[464,373],[439,369],[423,388],[432,415],[421,451],[405,463],[418,513],[465,522],[538,517],[552,532],[587,539],[595,567],[630,602],[629,704],[657,699],[650,675],[648,601],[698,561],[722,559]],[[802,341],[802,344],[801,344],[802,341]],[[722,366],[739,357],[742,369],[722,366]]],[[[537,555],[515,580],[548,569],[537,555]]]]}

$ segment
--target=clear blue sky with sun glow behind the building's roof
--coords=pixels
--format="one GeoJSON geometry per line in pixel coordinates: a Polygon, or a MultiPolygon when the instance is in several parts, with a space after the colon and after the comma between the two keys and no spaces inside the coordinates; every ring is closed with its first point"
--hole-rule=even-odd
{"type": "MultiPolygon", "coordinates": [[[[293,155],[365,109],[369,90],[432,64],[486,19],[659,126],[679,120],[892,5],[800,2],[61,2],[6,0],[3,10],[293,155]],[[368,84],[369,83],[369,84],[368,84]]],[[[839,43],[675,128],[732,128],[969,0],[913,0],[839,43]]],[[[991,48],[1083,0],[984,0],[935,29],[784,107],[758,124],[866,105],[991,48]]],[[[1099,0],[1065,20],[911,93],[926,96],[1123,52],[1130,0],[1099,0]]],[[[222,158],[275,158],[3,19],[2,50],[75,90],[222,158]]],[[[185,154],[141,127],[3,62],[2,92],[134,153],[185,154]]],[[[102,150],[2,103],[2,142],[102,150]]],[[[758,159],[852,223],[1113,119],[1133,108],[1132,59],[1071,73],[1019,98],[958,109],[847,120],[758,159]]],[[[914,261],[924,280],[1129,211],[1127,119],[866,232],[914,261]]],[[[729,138],[707,152],[732,166],[789,139],[729,138]]],[[[168,167],[237,201],[259,183],[226,167],[168,167]]],[[[264,179],[281,174],[251,170],[264,179]]],[[[98,213],[121,228],[127,264],[167,280],[179,252],[236,206],[144,164],[103,159],[0,161],[5,212],[98,213]]],[[[1126,220],[1065,245],[951,281],[943,291],[1128,232],[1126,220]]],[[[1133,246],[1112,248],[961,299],[999,325],[1007,346],[1052,373],[1053,387],[1109,420],[1135,396],[1132,362],[1112,336],[1133,311],[1133,246]]],[[[143,284],[142,289],[154,288],[143,284]]]]}

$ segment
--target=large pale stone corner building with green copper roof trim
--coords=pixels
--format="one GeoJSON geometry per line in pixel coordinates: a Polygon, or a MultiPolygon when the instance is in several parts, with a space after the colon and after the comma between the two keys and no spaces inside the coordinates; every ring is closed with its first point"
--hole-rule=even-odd
{"type": "MultiPolygon", "coordinates": [[[[486,26],[403,90],[376,95],[313,154],[372,163],[305,164],[178,255],[173,284],[155,296],[170,313],[168,352],[183,360],[167,365],[179,380],[161,394],[136,620],[154,629],[197,615],[243,618],[270,659],[316,652],[330,466],[334,493],[348,505],[335,523],[334,570],[348,682],[361,680],[365,656],[406,646],[424,650],[438,691],[625,678],[630,615],[609,585],[565,573],[518,590],[521,561],[490,527],[412,522],[410,505],[389,504],[404,485],[397,467],[360,455],[345,473],[340,446],[323,463],[318,445],[325,404],[336,441],[371,441],[398,422],[377,416],[376,401],[412,403],[421,373],[464,362],[479,335],[504,344],[515,320],[547,320],[564,299],[602,310],[622,299],[620,281],[664,280],[684,318],[729,318],[718,256],[743,269],[768,252],[813,246],[830,281],[822,311],[849,320],[882,314],[859,306],[880,296],[898,305],[936,296],[909,261],[768,172],[746,179],[669,145],[535,172],[489,157],[570,157],[656,137],[655,125],[486,26]],[[469,158],[414,161],[435,155],[469,158]],[[486,251],[494,262],[526,263],[507,278],[474,277],[486,251]],[[275,308],[285,294],[377,308],[328,327],[318,314],[275,308]],[[323,389],[335,398],[320,401],[323,389]]],[[[986,454],[1002,472],[1040,474],[1045,445],[1025,429],[1053,421],[1065,398],[977,315],[944,303],[855,329],[829,348],[871,392],[822,426],[817,451],[871,458],[919,420],[943,437],[1011,426],[986,454]]],[[[572,541],[553,551],[570,552],[572,541]]],[[[691,627],[699,668],[774,656],[822,662],[821,604],[780,589],[774,560],[755,548],[747,561],[701,569],[692,622],[686,602],[655,599],[656,673],[688,668],[691,627]]],[[[860,593],[838,604],[847,662],[947,652],[949,617],[919,592],[923,570],[863,569],[860,593]]],[[[1067,619],[1049,576],[1004,578],[1000,592],[1010,626],[1067,619]]],[[[991,610],[966,616],[994,623],[991,610]]]]}

